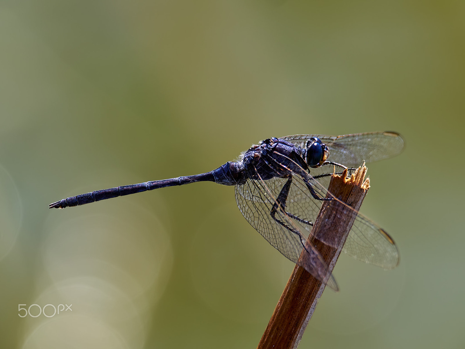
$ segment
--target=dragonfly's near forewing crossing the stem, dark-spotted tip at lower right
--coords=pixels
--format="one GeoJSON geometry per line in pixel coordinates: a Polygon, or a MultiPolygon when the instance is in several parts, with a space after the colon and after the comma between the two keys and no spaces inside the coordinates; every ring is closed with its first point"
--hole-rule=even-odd
{"type": "MultiPolygon", "coordinates": [[[[284,154],[279,155],[288,158],[284,154]]],[[[270,156],[269,161],[275,160],[270,156]]],[[[294,164],[299,166],[295,162],[294,164]]],[[[302,173],[305,173],[305,170],[302,169],[302,173]]],[[[324,178],[327,181],[327,177],[324,178]]],[[[294,172],[285,211],[288,216],[294,215],[300,220],[313,223],[319,213],[321,201],[315,200],[312,197],[306,182],[313,187],[320,197],[325,197],[328,193],[327,185],[322,185],[319,180],[313,178],[310,174],[303,178],[302,175],[294,172]]],[[[333,200],[339,201],[338,199],[333,200]]],[[[350,206],[345,205],[345,208],[345,214],[352,212],[356,217],[342,250],[362,262],[378,265],[386,269],[395,268],[399,264],[399,251],[392,238],[379,225],[350,206]]],[[[297,221],[296,219],[292,220],[297,221]]],[[[310,224],[302,222],[299,222],[299,224],[304,228],[301,229],[302,231],[311,231],[310,224]]],[[[339,241],[334,241],[334,237],[332,236],[315,236],[315,238],[335,248],[340,243],[339,241]]]]}

